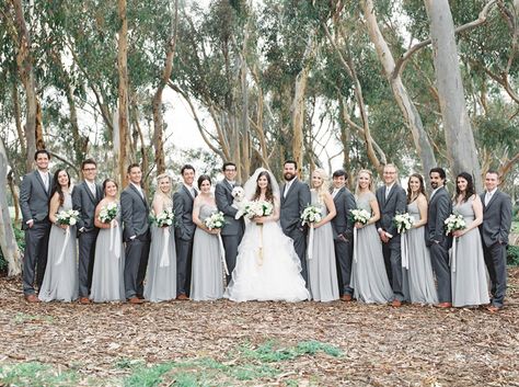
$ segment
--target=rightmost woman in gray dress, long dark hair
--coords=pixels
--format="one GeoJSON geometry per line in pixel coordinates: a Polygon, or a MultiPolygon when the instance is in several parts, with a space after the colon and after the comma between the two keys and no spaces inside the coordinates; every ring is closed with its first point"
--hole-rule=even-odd
{"type": "Polygon", "coordinates": [[[488,283],[478,226],[483,221],[483,204],[475,194],[472,175],[461,172],[455,178],[453,212],[463,216],[466,228],[452,232],[457,243],[451,250],[452,306],[473,307],[488,304],[488,283]]]}

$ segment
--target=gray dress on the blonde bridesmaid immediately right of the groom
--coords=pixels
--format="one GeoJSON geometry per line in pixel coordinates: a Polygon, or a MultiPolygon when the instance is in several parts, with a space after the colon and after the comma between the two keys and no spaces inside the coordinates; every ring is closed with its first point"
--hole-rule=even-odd
{"type": "MultiPolygon", "coordinates": [[[[312,205],[321,207],[323,218],[328,214],[326,205],[319,203],[318,194],[313,190],[312,205]]],[[[310,246],[310,241],[307,246],[310,246]]],[[[330,221],[314,229],[312,255],[311,259],[307,260],[307,266],[312,299],[316,301],[338,299],[337,265],[335,263],[333,230],[330,221]]]]}

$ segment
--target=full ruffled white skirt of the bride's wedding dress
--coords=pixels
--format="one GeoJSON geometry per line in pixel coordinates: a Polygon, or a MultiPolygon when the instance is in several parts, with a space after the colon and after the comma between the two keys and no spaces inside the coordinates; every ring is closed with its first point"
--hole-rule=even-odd
{"type": "Polygon", "coordinates": [[[223,297],[233,301],[309,298],[301,263],[290,238],[277,221],[247,223],[238,248],[237,266],[223,297]]]}

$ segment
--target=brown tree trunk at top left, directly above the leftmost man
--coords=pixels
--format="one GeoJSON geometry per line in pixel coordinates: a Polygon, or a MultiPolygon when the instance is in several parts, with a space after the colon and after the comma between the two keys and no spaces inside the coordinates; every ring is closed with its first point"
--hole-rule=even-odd
{"type": "MultiPolygon", "coordinates": [[[[33,156],[36,151],[36,126],[37,126],[37,109],[38,101],[36,94],[36,80],[33,69],[33,57],[31,52],[31,35],[28,34],[27,24],[23,15],[23,8],[21,0],[11,0],[14,9],[14,20],[18,32],[18,53],[16,65],[22,80],[25,98],[26,98],[26,113],[25,113],[25,140],[26,143],[26,170],[33,168],[33,156]]],[[[41,127],[39,127],[41,128],[41,127]]]]}

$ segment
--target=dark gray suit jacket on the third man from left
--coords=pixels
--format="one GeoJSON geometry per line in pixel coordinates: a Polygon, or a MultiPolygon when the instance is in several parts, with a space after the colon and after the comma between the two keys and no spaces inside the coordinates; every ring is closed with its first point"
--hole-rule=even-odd
{"type": "Polygon", "coordinates": [[[124,239],[127,241],[132,236],[147,239],[150,208],[146,195],[142,197],[131,183],[120,194],[120,212],[125,226],[124,239]]]}

